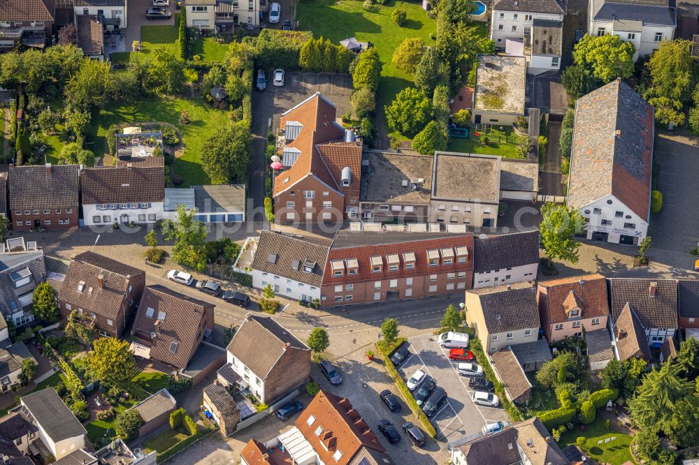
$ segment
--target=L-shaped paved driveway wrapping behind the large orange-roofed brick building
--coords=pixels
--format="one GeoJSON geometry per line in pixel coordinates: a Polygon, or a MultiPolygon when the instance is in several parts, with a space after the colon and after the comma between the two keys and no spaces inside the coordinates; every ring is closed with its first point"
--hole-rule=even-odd
{"type": "MultiPolygon", "coordinates": [[[[282,15],[284,8],[282,7],[282,15]]],[[[271,70],[270,70],[271,71],[271,70]]],[[[268,72],[268,75],[271,75],[268,72]]],[[[264,91],[253,90],[252,94],[252,163],[250,165],[250,197],[259,220],[264,212],[265,185],[268,161],[264,158],[267,145],[267,133],[271,128],[278,128],[279,118],[283,112],[306,98],[322,93],[333,102],[338,118],[350,111],[349,95],[352,94],[352,78],[349,74],[335,73],[287,73],[284,86],[268,85],[264,91]]],[[[250,218],[254,220],[254,218],[250,218]]]]}

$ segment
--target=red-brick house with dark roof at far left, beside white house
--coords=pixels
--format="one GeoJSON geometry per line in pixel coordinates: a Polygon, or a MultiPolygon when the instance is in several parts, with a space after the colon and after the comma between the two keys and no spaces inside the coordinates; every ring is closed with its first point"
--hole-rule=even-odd
{"type": "Polygon", "coordinates": [[[9,178],[13,230],[78,226],[78,165],[15,166],[9,178]]]}

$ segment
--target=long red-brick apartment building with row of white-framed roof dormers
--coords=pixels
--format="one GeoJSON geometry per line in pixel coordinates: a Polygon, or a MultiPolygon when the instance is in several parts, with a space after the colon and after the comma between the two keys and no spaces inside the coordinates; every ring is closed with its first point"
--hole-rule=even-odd
{"type": "Polygon", "coordinates": [[[324,307],[420,299],[470,289],[473,235],[338,231],[325,264],[324,307]]]}

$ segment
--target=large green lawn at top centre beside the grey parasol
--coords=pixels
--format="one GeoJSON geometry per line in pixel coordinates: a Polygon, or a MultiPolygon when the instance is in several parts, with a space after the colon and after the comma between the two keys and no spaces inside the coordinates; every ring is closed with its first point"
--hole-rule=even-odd
{"type": "MultiPolygon", "coordinates": [[[[399,91],[412,85],[412,75],[391,63],[394,50],[408,37],[422,38],[426,44],[434,45],[430,34],[437,33],[437,23],[427,16],[420,3],[396,0],[388,6],[376,7],[376,12],[371,13],[359,0],[343,0],[341,3],[336,0],[304,0],[297,3],[296,18],[300,21],[299,29],[310,29],[316,38],[323,36],[338,43],[356,36],[361,42],[374,44],[384,64],[377,95],[378,109],[384,108],[399,91]],[[398,7],[408,13],[403,27],[396,26],[391,20],[391,13],[398,7]]],[[[389,135],[408,138],[399,133],[389,135]]]]}

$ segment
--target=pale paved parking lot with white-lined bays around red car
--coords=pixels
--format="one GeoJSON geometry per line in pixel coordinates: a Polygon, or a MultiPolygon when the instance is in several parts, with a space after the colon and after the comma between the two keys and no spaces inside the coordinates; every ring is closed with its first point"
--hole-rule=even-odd
{"type": "Polygon", "coordinates": [[[421,334],[412,337],[410,357],[398,371],[408,379],[421,369],[435,378],[447,391],[448,399],[431,418],[438,434],[451,443],[463,437],[478,434],[486,423],[509,420],[501,407],[476,406],[471,400],[473,390],[468,388],[468,376],[459,376],[456,362],[449,360],[449,349],[442,349],[436,336],[421,334]]]}

